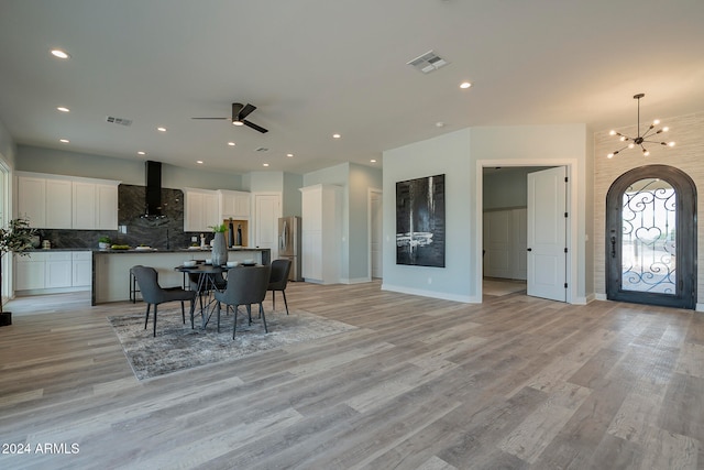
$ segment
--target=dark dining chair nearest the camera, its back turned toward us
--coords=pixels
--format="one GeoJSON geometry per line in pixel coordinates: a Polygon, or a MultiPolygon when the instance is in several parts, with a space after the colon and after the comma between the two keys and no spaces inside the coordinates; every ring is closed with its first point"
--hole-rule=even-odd
{"type": "Polygon", "coordinates": [[[246,306],[250,325],[252,325],[252,304],[260,304],[260,316],[264,324],[264,331],[268,332],[266,327],[266,316],[264,315],[264,297],[266,297],[266,287],[268,287],[268,277],[272,266],[266,264],[263,266],[241,266],[232,267],[228,271],[228,286],[223,292],[216,292],[215,297],[216,315],[218,317],[218,332],[220,331],[220,304],[226,304],[226,310],[229,311],[230,306],[234,308],[234,319],[232,320],[232,339],[238,327],[238,309],[240,305],[246,306]]]}

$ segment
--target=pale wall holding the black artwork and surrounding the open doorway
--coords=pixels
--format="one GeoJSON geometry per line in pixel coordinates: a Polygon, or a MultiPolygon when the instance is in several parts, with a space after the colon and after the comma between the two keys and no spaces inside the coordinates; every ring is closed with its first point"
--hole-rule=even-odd
{"type": "Polygon", "coordinates": [[[481,302],[482,167],[568,165],[574,249],[568,298],[585,302],[587,150],[586,127],[568,124],[464,129],[384,152],[383,288],[481,302]],[[446,174],[446,267],[397,265],[396,183],[437,174],[446,174]]]}

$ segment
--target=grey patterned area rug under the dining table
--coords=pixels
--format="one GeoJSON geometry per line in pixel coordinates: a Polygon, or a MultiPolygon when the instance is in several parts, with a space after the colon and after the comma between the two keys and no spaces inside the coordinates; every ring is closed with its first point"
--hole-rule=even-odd
{"type": "MultiPolygon", "coordinates": [[[[188,314],[188,313],[186,313],[188,314]]],[[[108,317],[124,350],[134,375],[139,380],[221,361],[237,360],[301,341],[310,341],[330,335],[356,329],[352,325],[320,317],[308,311],[290,310],[267,313],[268,334],[258,318],[258,309],[252,308],[252,325],[248,325],[246,310],[240,307],[238,329],[232,339],[232,313],[221,313],[220,332],[215,316],[207,328],[190,329],[186,315],[183,324],[180,307],[160,308],[156,338],[153,337],[152,316],[144,329],[144,314],[108,317]]]]}

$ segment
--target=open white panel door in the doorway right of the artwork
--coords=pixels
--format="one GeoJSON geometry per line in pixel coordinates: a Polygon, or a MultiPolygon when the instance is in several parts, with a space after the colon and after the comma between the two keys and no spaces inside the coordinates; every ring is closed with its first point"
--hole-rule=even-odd
{"type": "Polygon", "coordinates": [[[566,168],[528,174],[528,295],[566,302],[566,168]]]}

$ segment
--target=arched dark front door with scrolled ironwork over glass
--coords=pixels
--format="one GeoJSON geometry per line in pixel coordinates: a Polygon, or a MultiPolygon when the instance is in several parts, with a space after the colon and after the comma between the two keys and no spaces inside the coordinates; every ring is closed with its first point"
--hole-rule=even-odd
{"type": "Polygon", "coordinates": [[[696,187],[682,171],[647,165],[625,173],[606,196],[606,296],[694,308],[696,187]]]}

